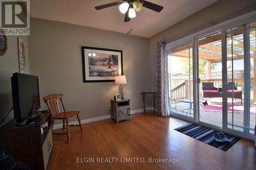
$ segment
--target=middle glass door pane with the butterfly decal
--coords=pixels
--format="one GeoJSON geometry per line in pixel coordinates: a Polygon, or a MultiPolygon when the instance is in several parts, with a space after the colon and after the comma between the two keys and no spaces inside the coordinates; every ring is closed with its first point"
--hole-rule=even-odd
{"type": "Polygon", "coordinates": [[[197,41],[198,122],[222,128],[222,47],[221,31],[197,41]]]}

